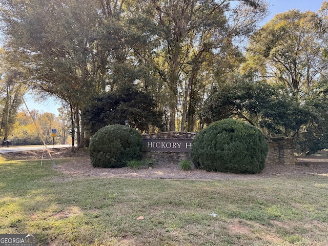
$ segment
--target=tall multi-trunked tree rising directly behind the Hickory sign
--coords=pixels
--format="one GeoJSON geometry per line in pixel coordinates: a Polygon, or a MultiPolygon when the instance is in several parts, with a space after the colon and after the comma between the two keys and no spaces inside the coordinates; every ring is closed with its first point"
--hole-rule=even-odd
{"type": "Polygon", "coordinates": [[[154,19],[160,42],[152,64],[167,87],[170,130],[176,130],[180,105],[181,130],[187,111],[188,128],[193,128],[204,65],[237,36],[251,33],[266,8],[264,1],[149,1],[147,15],[154,19]]]}

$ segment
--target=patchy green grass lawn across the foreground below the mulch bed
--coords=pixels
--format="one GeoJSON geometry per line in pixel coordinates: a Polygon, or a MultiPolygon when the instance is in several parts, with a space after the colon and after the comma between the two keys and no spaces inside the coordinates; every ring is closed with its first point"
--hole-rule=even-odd
{"type": "Polygon", "coordinates": [[[0,234],[38,245],[328,245],[327,212],[328,175],[72,178],[49,160],[0,159],[0,234]]]}

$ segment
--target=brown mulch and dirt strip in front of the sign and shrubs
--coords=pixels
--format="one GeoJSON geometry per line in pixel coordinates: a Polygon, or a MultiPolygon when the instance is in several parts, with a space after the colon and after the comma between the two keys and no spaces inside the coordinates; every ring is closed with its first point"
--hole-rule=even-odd
{"type": "MultiPolygon", "coordinates": [[[[54,149],[50,151],[52,158],[62,159],[72,157],[69,162],[60,163],[58,171],[69,174],[72,177],[119,177],[119,178],[144,178],[144,179],[194,179],[194,180],[215,180],[215,179],[264,179],[272,176],[290,175],[327,175],[328,165],[317,161],[309,165],[307,162],[298,161],[298,165],[267,165],[258,174],[232,174],[207,172],[194,169],[183,171],[179,165],[163,165],[156,163],[153,168],[142,167],[141,169],[131,169],[129,167],[117,169],[94,168],[87,151],[72,152],[70,148],[54,149]],[[303,164],[304,163],[304,164],[303,164]]],[[[2,154],[10,159],[49,159],[47,153],[40,151],[14,152],[2,154]]],[[[312,160],[311,161],[315,161],[312,160]]]]}

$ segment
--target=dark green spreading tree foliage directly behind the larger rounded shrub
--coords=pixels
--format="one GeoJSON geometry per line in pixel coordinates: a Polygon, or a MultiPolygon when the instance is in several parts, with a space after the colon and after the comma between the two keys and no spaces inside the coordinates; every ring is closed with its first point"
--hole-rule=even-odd
{"type": "Polygon", "coordinates": [[[277,86],[263,81],[236,81],[213,88],[201,117],[207,124],[239,117],[269,135],[293,137],[310,121],[312,109],[310,105],[300,105],[297,97],[287,96],[277,86]]]}

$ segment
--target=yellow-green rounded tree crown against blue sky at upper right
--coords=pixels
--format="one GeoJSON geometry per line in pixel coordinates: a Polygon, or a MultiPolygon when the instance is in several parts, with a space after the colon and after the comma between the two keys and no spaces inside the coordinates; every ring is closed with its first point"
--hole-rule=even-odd
{"type": "Polygon", "coordinates": [[[285,86],[294,96],[311,91],[318,77],[322,43],[312,11],[290,10],[274,16],[252,38],[248,71],[285,86]]]}

